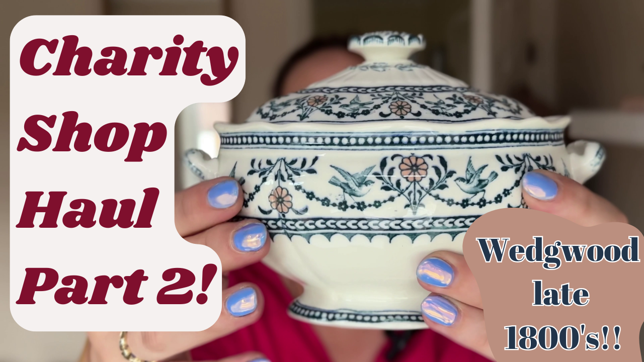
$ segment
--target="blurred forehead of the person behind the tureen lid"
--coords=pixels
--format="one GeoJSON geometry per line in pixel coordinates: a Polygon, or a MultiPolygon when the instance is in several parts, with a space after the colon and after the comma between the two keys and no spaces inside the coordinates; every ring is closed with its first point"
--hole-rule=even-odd
{"type": "Polygon", "coordinates": [[[284,80],[280,95],[307,88],[312,83],[326,79],[363,61],[364,59],[360,55],[343,48],[319,50],[301,59],[291,68],[284,80]]]}

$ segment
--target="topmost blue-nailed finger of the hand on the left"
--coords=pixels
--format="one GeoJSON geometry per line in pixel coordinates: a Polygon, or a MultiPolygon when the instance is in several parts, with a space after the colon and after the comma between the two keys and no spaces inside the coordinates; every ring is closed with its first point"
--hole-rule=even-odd
{"type": "Polygon", "coordinates": [[[242,189],[236,180],[220,177],[175,194],[175,227],[187,236],[230,220],[240,212],[242,189]]]}

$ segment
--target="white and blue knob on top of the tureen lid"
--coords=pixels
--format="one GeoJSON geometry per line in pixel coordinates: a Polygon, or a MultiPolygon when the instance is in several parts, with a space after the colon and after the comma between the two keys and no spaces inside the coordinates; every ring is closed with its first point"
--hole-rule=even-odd
{"type": "Polygon", "coordinates": [[[406,61],[410,55],[425,48],[422,34],[373,32],[349,39],[348,49],[362,55],[367,62],[406,61]]]}

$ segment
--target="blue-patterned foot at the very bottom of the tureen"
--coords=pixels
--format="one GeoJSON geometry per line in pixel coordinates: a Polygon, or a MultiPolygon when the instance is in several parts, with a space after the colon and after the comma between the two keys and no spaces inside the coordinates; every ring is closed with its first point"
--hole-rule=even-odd
{"type": "Polygon", "coordinates": [[[352,329],[426,329],[421,312],[411,310],[320,309],[305,305],[299,298],[289,306],[289,316],[300,321],[352,329]]]}

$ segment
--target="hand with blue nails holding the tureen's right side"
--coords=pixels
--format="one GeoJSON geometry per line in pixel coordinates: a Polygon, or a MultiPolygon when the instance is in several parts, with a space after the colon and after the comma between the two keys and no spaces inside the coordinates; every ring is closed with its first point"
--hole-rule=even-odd
{"type": "MultiPolygon", "coordinates": [[[[610,202],[570,178],[549,171],[526,173],[522,180],[528,207],[582,226],[627,223],[610,202]]],[[[448,251],[428,255],[417,269],[419,283],[432,294],[422,302],[425,323],[482,356],[494,359],[483,318],[477,281],[464,256],[448,251]]]]}

